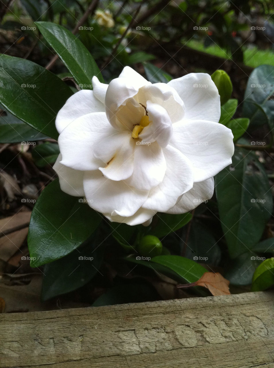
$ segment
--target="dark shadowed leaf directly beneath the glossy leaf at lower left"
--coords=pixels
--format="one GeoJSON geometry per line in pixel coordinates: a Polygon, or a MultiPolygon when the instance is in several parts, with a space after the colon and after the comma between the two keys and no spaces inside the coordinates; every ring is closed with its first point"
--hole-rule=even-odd
{"type": "Polygon", "coordinates": [[[44,266],[42,300],[69,293],[89,282],[100,268],[104,247],[95,239],[84,244],[57,261],[44,266]]]}

